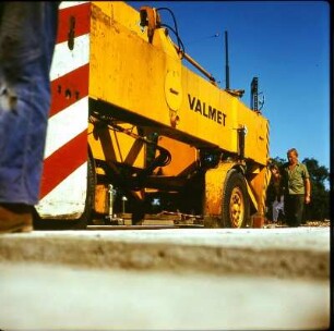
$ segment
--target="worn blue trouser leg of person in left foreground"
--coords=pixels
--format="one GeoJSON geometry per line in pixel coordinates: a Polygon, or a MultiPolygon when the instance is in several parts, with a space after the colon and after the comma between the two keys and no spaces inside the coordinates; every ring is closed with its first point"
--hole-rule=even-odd
{"type": "Polygon", "coordinates": [[[58,2],[15,2],[0,19],[0,203],[38,203],[58,2]]]}

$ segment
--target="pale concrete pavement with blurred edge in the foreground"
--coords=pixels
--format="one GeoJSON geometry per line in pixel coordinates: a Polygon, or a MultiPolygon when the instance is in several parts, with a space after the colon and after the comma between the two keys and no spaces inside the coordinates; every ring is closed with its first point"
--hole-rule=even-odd
{"type": "Polygon", "coordinates": [[[0,236],[2,330],[325,330],[330,229],[0,236]]]}

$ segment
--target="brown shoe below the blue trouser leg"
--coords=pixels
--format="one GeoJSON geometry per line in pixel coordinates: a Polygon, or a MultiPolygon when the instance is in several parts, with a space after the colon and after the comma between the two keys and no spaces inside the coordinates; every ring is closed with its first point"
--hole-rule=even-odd
{"type": "Polygon", "coordinates": [[[32,209],[23,204],[0,204],[0,233],[33,231],[32,209]]]}

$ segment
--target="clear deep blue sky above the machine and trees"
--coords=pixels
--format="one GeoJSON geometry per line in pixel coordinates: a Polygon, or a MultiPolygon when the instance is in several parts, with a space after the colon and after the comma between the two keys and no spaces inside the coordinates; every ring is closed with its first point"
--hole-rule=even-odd
{"type": "MultiPolygon", "coordinates": [[[[326,1],[127,1],[169,8],[186,52],[225,88],[225,30],[229,86],[259,78],[262,113],[270,121],[270,154],[314,158],[330,170],[330,4],[326,1]]],[[[160,12],[174,27],[171,15],[160,12]]],[[[172,36],[172,34],[171,34],[172,36]]]]}

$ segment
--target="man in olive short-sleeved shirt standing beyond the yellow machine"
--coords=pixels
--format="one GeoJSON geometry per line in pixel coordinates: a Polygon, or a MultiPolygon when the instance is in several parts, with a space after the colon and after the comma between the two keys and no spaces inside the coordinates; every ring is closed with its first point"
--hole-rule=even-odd
{"type": "Polygon", "coordinates": [[[301,224],[303,206],[311,200],[311,183],[307,167],[298,161],[298,151],[291,148],[282,169],[284,210],[288,226],[301,224]]]}

